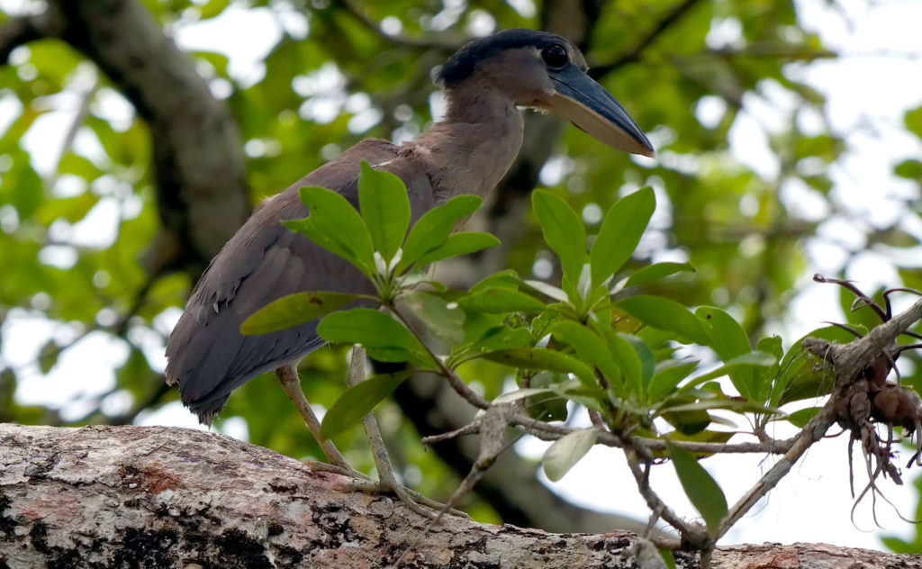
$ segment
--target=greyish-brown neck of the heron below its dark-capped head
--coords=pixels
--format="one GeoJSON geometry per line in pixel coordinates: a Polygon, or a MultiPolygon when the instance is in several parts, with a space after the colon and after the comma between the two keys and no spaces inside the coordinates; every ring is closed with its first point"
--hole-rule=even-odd
{"type": "Polygon", "coordinates": [[[446,93],[448,110],[406,145],[426,166],[437,203],[459,194],[486,196],[522,148],[522,113],[495,89],[460,85],[446,93]]]}

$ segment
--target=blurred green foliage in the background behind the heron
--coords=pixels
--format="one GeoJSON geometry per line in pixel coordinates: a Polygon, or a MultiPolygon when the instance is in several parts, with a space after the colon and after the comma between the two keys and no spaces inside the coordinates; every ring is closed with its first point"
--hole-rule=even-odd
{"type": "MultiPolygon", "coordinates": [[[[482,30],[485,22],[537,28],[544,8],[538,3],[534,13],[519,12],[513,5],[528,3],[485,0],[348,5],[357,10],[331,0],[144,4],[171,33],[247,6],[266,11],[275,22],[278,41],[261,70],[231,75],[227,55],[191,54],[237,118],[254,203],[363,137],[400,140],[419,133],[431,122],[431,94],[437,91],[432,70],[470,30],[482,30]],[[384,29],[396,30],[401,40],[385,38],[368,22],[385,22],[384,29]]],[[[886,194],[899,215],[887,225],[856,220],[860,212],[833,191],[833,170],[850,141],[831,130],[822,94],[796,78],[804,65],[838,55],[804,28],[794,3],[699,2],[646,41],[678,4],[603,3],[586,53],[598,69],[610,66],[597,79],[651,133],[658,159],[617,155],[567,127],[542,183],[582,215],[590,239],[600,212],[619,195],[651,185],[657,211],[629,268],[679,261],[697,272],[680,273],[668,284],[647,283],[644,293],[689,306],[718,306],[750,338],[790,323],[796,315],[788,307],[798,293],[819,286],[805,278],[817,264],[810,250],[841,258],[823,260],[841,275],[858,255],[871,251],[903,280],[887,286],[922,289],[922,273],[912,260],[922,239],[917,213],[922,162],[904,160],[895,167],[911,191],[868,189],[886,194]],[[747,113],[758,115],[753,101],[774,107],[779,99],[792,101],[793,111],[778,111],[785,117],[781,127],[762,128],[776,168],[754,172],[734,158],[728,135],[747,113]],[[819,125],[804,126],[799,120],[804,116],[819,116],[819,125]],[[847,239],[822,231],[836,221],[853,231],[847,239]]],[[[9,16],[0,13],[0,22],[9,16]]],[[[30,42],[0,65],[0,420],[136,421],[175,404],[176,394],[162,387],[162,347],[195,278],[171,275],[148,282],[141,266],[159,220],[148,128],[127,107],[109,79],[61,41],[30,42]],[[4,345],[21,333],[23,322],[35,320],[49,324],[45,340],[22,363],[24,354],[4,345]],[[66,402],[53,393],[43,405],[18,400],[22,384],[53,373],[68,350],[80,350],[82,340],[100,334],[110,345],[127,348],[113,383],[66,402]]],[[[904,127],[922,137],[922,108],[906,114],[904,127]]],[[[529,215],[506,222],[520,230],[514,243],[504,243],[506,266],[559,284],[559,269],[547,270],[552,257],[537,220],[529,215]]],[[[832,288],[828,293],[836,294],[832,288]]],[[[841,314],[823,318],[844,320],[841,314]]],[[[917,357],[907,352],[904,359],[912,363],[904,381],[922,386],[917,357]]],[[[485,393],[501,391],[501,373],[478,362],[462,371],[466,367],[476,369],[485,393]]],[[[308,398],[329,408],[343,390],[345,369],[342,350],[314,352],[301,369],[308,398]]],[[[453,488],[444,477],[453,475],[418,444],[395,408],[385,404],[382,415],[389,436],[406,443],[392,445],[405,453],[396,462],[425,472],[420,492],[444,499],[453,488]]],[[[272,377],[259,377],[235,393],[218,428],[236,417],[245,418],[255,444],[290,456],[319,456],[272,377]]],[[[359,468],[370,467],[358,430],[336,442],[356,449],[349,458],[359,468]]]]}

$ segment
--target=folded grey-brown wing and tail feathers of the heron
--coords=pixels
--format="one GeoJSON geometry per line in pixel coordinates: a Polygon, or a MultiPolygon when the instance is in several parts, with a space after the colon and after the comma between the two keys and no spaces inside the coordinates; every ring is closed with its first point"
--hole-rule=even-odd
{"type": "Polygon", "coordinates": [[[372,291],[361,272],[341,258],[287,230],[282,219],[307,216],[298,188],[320,185],[358,202],[359,161],[396,173],[408,185],[414,219],[432,207],[428,176],[396,147],[365,140],[337,160],[266,200],[212,260],[167,345],[167,382],[179,385],[183,403],[210,422],[235,388],[255,375],[300,360],[323,345],[317,322],[270,334],[242,336],[250,314],[282,296],[303,290],[372,291]]]}

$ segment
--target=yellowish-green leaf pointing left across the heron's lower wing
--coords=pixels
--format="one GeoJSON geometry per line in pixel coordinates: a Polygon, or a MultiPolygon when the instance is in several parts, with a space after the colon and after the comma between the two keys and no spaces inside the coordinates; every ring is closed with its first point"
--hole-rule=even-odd
{"type": "Polygon", "coordinates": [[[310,322],[358,300],[357,294],[341,292],[296,292],[270,302],[243,321],[241,334],[253,336],[310,322]]]}

